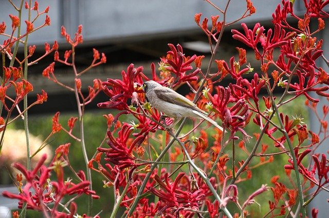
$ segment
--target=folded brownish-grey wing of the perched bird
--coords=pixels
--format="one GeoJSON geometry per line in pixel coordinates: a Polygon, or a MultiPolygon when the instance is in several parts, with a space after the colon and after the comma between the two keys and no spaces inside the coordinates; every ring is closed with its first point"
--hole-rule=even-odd
{"type": "Polygon", "coordinates": [[[187,99],[186,97],[176,93],[175,91],[167,88],[167,87],[159,87],[154,89],[154,93],[157,97],[163,101],[170,102],[172,104],[177,104],[185,107],[189,107],[193,110],[199,111],[201,113],[205,112],[198,108],[192,101],[187,99]]]}

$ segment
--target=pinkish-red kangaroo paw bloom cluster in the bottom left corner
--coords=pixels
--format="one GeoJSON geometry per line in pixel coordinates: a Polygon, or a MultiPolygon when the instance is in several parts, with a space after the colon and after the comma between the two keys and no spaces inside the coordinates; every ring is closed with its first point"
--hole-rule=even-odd
{"type": "Polygon", "coordinates": [[[44,162],[47,158],[44,155],[33,170],[27,170],[22,164],[15,163],[13,167],[21,171],[17,174],[17,182],[19,194],[4,191],[3,195],[8,198],[18,199],[19,208],[22,209],[26,204],[27,209],[38,210],[48,216],[48,212],[54,217],[72,217],[77,213],[77,204],[70,202],[68,213],[60,212],[60,202],[66,197],[77,198],[82,194],[92,195],[94,199],[98,199],[95,191],[89,189],[89,181],[86,180],[82,170],[77,173],[80,180],[79,183],[73,183],[71,180],[64,180],[64,166],[66,165],[68,148],[70,144],[60,145],[56,149],[56,155],[50,165],[46,167],[44,162]],[[57,181],[52,181],[51,172],[56,174],[57,181]],[[22,187],[23,176],[26,180],[26,185],[22,187]]]}

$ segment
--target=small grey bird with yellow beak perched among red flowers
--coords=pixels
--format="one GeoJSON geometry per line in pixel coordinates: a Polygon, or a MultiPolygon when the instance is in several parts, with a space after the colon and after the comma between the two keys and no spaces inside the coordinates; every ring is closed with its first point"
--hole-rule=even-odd
{"type": "Polygon", "coordinates": [[[203,118],[223,131],[220,125],[207,117],[207,113],[192,101],[156,81],[145,81],[138,90],[141,89],[146,93],[151,105],[167,116],[179,119],[182,117],[203,118]]]}

